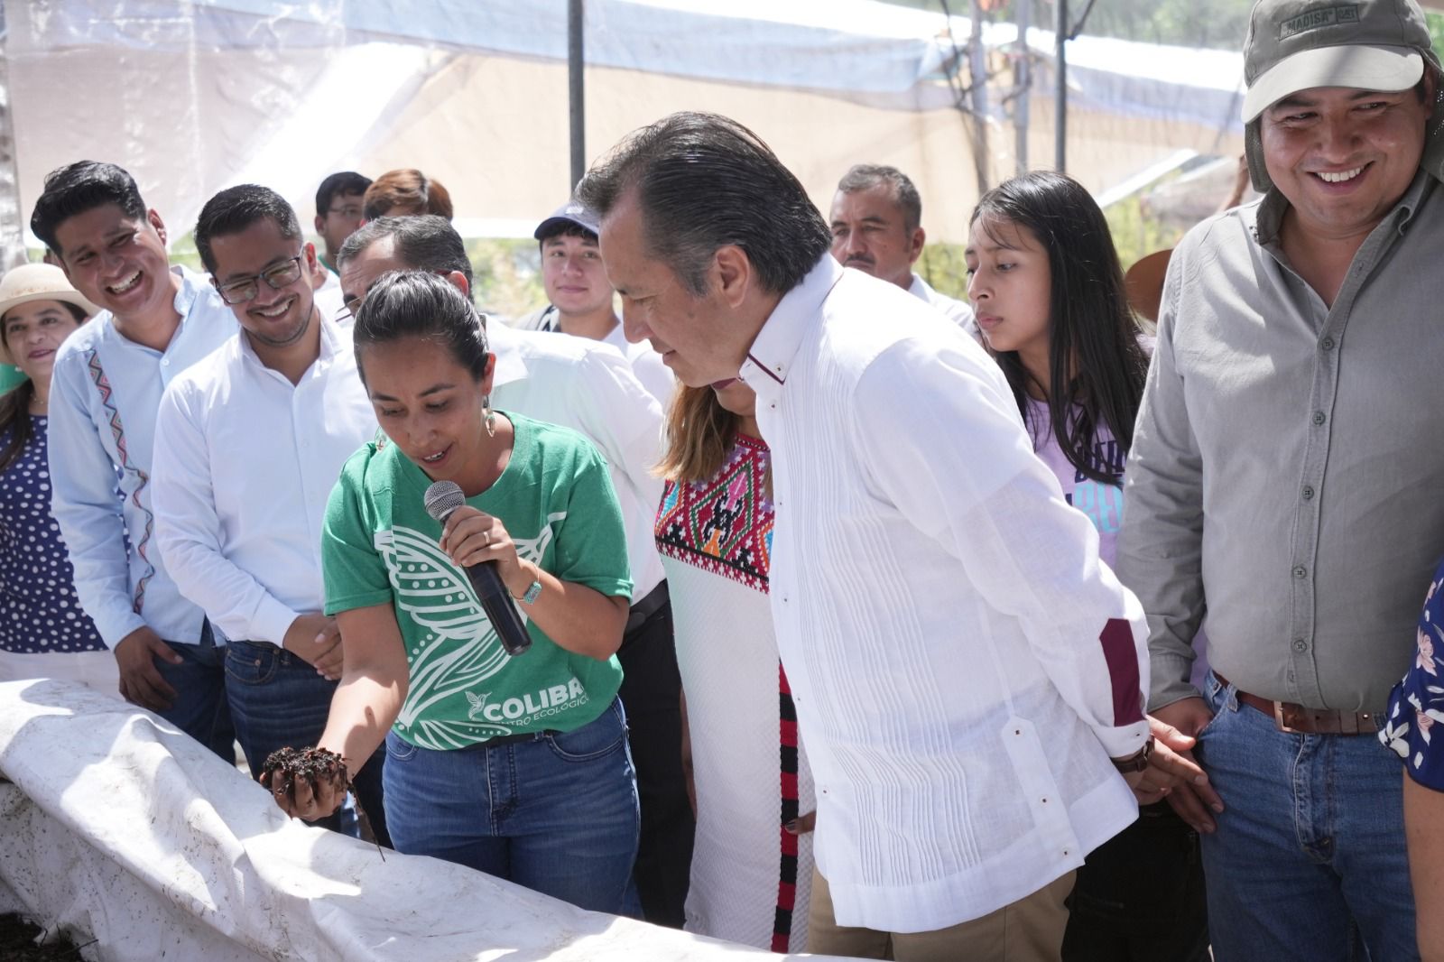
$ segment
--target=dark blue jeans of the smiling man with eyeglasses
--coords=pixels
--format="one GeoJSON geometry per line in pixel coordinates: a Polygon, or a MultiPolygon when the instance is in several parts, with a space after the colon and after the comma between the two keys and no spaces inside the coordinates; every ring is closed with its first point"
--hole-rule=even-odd
{"type": "MultiPolygon", "coordinates": [[[[335,692],[336,682],[316,675],[305,659],[284,649],[257,641],[227,644],[225,698],[235,721],[235,740],[241,742],[253,779],[260,777],[261,766],[277,748],[302,748],[321,740],[335,692]]],[[[386,753],[377,751],[351,780],[371,832],[378,842],[390,845],[381,790],[384,758],[386,753]]],[[[335,831],[341,820],[334,815],[316,825],[335,831]]]]}

